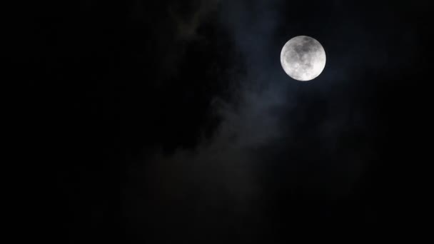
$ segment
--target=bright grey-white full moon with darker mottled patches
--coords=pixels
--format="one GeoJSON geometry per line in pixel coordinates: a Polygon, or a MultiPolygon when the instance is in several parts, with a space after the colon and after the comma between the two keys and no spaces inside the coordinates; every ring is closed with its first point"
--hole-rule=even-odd
{"type": "Polygon", "coordinates": [[[310,36],[296,36],[283,46],[281,52],[283,70],[297,81],[311,81],[325,67],[323,46],[310,36]]]}

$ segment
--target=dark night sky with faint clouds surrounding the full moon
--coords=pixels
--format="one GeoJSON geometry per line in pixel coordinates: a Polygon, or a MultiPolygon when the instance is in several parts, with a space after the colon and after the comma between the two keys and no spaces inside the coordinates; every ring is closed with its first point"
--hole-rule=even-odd
{"type": "Polygon", "coordinates": [[[410,230],[428,163],[432,9],[25,6],[11,19],[7,58],[19,64],[17,157],[34,172],[24,183],[29,225],[44,219],[39,234],[54,243],[353,243],[410,230]],[[301,35],[327,55],[310,82],[280,63],[301,35]]]}

